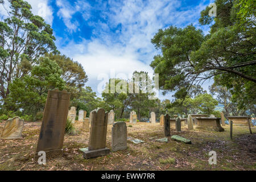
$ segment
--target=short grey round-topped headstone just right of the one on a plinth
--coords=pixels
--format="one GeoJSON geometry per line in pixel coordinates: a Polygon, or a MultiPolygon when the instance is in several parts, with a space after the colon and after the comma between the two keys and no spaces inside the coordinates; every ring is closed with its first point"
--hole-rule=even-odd
{"type": "Polygon", "coordinates": [[[112,151],[127,148],[127,126],[125,122],[116,122],[112,127],[112,151]]]}

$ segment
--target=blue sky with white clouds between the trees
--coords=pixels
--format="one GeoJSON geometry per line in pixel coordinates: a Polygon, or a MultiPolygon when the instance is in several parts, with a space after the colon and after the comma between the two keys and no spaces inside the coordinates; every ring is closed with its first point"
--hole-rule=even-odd
{"type": "MultiPolygon", "coordinates": [[[[150,39],[159,28],[170,25],[185,27],[188,24],[201,28],[200,11],[213,1],[85,1],[85,0],[27,0],[32,13],[42,15],[56,37],[61,54],[82,64],[88,75],[86,86],[97,92],[101,74],[114,71],[116,77],[128,78],[129,73],[147,71],[154,55],[159,52],[150,39]]],[[[7,3],[6,3],[6,6],[7,3]]],[[[0,14],[3,8],[0,7],[0,14]]],[[[208,88],[211,81],[205,81],[208,88]]],[[[171,98],[160,95],[159,98],[171,98]]]]}

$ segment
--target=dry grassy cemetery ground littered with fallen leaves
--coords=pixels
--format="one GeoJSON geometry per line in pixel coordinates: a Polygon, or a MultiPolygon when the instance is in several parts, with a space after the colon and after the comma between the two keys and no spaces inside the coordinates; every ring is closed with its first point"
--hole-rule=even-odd
{"type": "MultiPolygon", "coordinates": [[[[79,148],[88,147],[89,129],[82,129],[76,121],[77,134],[65,135],[63,156],[46,160],[39,165],[34,159],[41,122],[25,122],[22,137],[16,140],[0,140],[0,170],[255,170],[256,127],[233,126],[233,140],[229,138],[229,125],[225,131],[193,130],[182,127],[171,135],[190,139],[192,144],[171,140],[156,142],[163,137],[159,123],[126,123],[127,137],[137,138],[144,143],[135,144],[127,140],[127,150],[111,151],[111,129],[108,125],[106,147],[110,154],[93,159],[84,159],[79,148]],[[216,151],[217,165],[208,163],[209,151],[216,151]]],[[[4,122],[0,123],[2,133],[4,122]]]]}

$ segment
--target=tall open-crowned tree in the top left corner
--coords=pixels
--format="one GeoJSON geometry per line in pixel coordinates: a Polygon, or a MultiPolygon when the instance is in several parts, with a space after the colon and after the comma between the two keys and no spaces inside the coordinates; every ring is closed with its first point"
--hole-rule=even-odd
{"type": "MultiPolygon", "coordinates": [[[[0,96],[6,98],[15,78],[30,73],[30,67],[46,52],[57,52],[53,30],[31,6],[22,0],[9,0],[7,18],[0,21],[0,96]]],[[[3,2],[1,2],[0,6],[3,2]]],[[[2,9],[3,10],[3,9],[2,9]]]]}

